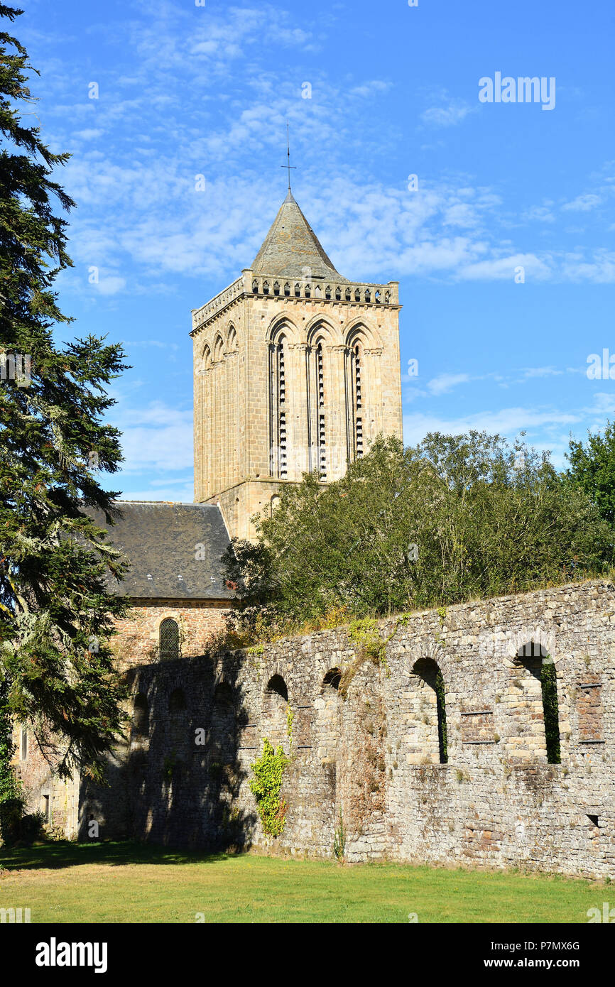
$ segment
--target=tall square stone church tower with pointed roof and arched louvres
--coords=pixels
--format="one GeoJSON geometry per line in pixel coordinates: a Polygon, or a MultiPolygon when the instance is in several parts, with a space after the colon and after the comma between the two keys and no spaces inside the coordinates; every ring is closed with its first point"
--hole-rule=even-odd
{"type": "Polygon", "coordinates": [[[338,273],[292,192],[241,277],[192,310],[194,499],[254,535],[284,484],[402,436],[399,283],[338,273]]]}

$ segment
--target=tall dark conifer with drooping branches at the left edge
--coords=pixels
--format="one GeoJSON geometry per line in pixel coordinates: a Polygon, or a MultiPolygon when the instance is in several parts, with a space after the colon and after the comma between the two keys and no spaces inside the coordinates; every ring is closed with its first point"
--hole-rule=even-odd
{"type": "MultiPolygon", "coordinates": [[[[0,4],[10,22],[21,13],[0,4]]],[[[125,567],[95,519],[113,521],[116,496],[96,472],[121,460],[103,417],[125,364],[103,339],[54,342],[71,321],[53,290],[71,265],[54,206],[74,203],[51,177],[67,155],[24,121],[33,71],[0,33],[0,745],[9,716],[28,721],[62,775],[78,762],[101,778],[121,724],[110,637],[125,609],[107,587],[125,567]]]]}

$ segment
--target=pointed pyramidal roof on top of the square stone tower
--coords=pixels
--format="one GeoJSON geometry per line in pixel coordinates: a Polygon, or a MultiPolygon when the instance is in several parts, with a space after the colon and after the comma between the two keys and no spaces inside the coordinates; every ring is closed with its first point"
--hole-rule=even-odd
{"type": "Polygon", "coordinates": [[[255,274],[296,278],[305,276],[304,267],[310,268],[312,278],[347,283],[347,278],[338,273],[325,254],[288,190],[251,269],[255,274]]]}

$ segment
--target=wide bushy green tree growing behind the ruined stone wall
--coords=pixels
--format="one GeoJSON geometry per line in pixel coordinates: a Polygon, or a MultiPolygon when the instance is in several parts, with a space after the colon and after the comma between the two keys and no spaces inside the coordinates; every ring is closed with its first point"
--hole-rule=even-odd
{"type": "Polygon", "coordinates": [[[377,438],[344,479],[285,487],[226,565],[242,622],[271,631],[559,583],[600,566],[608,529],[549,461],[498,435],[377,438]]]}

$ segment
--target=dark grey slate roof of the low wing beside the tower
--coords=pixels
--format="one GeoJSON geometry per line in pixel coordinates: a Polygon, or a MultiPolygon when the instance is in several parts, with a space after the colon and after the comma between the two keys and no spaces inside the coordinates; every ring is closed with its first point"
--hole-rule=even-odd
{"type": "Polygon", "coordinates": [[[121,517],[114,525],[97,519],[131,567],[121,582],[110,585],[112,592],[136,598],[233,598],[220,563],[230,541],[218,507],[163,500],[116,500],[115,505],[121,517]]]}

